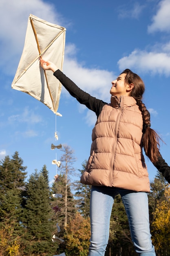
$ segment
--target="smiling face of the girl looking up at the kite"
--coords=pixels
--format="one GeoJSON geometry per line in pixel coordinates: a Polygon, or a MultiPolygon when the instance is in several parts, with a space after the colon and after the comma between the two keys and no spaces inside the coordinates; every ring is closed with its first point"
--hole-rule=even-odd
{"type": "Polygon", "coordinates": [[[121,95],[129,96],[130,85],[128,83],[125,83],[125,77],[126,77],[126,74],[120,74],[117,77],[117,79],[112,81],[112,88],[110,89],[110,94],[117,96],[118,98],[121,95]]]}

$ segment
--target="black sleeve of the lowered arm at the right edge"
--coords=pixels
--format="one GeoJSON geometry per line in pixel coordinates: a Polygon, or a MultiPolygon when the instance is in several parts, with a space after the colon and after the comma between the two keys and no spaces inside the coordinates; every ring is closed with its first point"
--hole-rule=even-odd
{"type": "Polygon", "coordinates": [[[161,155],[158,157],[158,161],[154,165],[158,171],[162,173],[168,183],[170,183],[170,166],[168,166],[161,155]]]}

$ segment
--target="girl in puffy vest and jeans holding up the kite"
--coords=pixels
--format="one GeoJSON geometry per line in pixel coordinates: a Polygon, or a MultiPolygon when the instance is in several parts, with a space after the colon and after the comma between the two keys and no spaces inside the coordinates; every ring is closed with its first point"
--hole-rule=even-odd
{"type": "Polygon", "coordinates": [[[79,103],[97,115],[91,156],[81,177],[83,184],[92,185],[88,256],[105,254],[111,211],[118,194],[128,216],[135,251],[141,256],[155,256],[148,212],[150,183],[142,147],[169,183],[170,167],[159,153],[159,136],[150,128],[150,114],[141,101],[145,90],[143,81],[132,71],[124,70],[112,81],[108,104],[79,89],[55,64],[43,59],[40,63],[44,70],[54,72],[79,103]]]}

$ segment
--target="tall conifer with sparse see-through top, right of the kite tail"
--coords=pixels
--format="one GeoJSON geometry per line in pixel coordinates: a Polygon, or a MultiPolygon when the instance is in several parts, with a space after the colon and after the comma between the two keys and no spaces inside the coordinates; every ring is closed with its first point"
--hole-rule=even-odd
{"type": "MultiPolygon", "coordinates": [[[[67,145],[62,146],[62,151],[64,154],[61,156],[61,166],[60,175],[56,182],[53,183],[51,188],[53,194],[61,194],[62,198],[52,198],[52,207],[56,210],[53,215],[54,223],[54,234],[57,234],[56,223],[60,226],[60,238],[64,238],[66,229],[68,227],[69,218],[73,219],[75,216],[75,200],[71,192],[71,175],[74,174],[75,169],[73,168],[73,163],[75,162],[75,157],[73,156],[74,151],[67,145]]],[[[58,243],[59,247],[59,243],[58,243]]],[[[60,249],[65,249],[65,243],[60,244],[60,249]]]]}

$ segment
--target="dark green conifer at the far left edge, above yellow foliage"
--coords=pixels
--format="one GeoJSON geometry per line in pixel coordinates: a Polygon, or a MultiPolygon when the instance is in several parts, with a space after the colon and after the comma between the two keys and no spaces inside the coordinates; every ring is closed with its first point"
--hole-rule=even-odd
{"type": "Polygon", "coordinates": [[[13,229],[15,239],[22,234],[22,196],[26,166],[15,152],[12,159],[6,156],[0,162],[0,228],[8,225],[13,229]]]}

